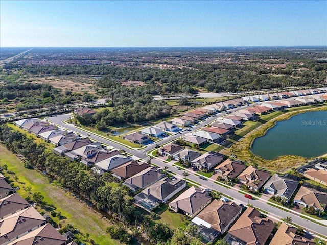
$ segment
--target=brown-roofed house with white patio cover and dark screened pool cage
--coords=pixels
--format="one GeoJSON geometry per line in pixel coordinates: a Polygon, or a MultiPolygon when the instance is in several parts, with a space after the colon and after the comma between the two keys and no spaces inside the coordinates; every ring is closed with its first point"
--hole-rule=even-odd
{"type": "Polygon", "coordinates": [[[198,233],[207,242],[213,242],[228,230],[241,212],[242,207],[233,202],[214,199],[192,219],[192,224],[197,225],[198,233]]]}

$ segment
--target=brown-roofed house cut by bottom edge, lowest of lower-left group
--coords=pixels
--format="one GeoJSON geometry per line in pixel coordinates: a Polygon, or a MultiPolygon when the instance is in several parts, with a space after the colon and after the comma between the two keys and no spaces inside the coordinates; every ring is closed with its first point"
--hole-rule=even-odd
{"type": "Polygon", "coordinates": [[[66,244],[66,239],[49,223],[33,231],[30,231],[28,234],[19,237],[13,242],[8,243],[8,245],[65,245],[65,244],[66,244]]]}

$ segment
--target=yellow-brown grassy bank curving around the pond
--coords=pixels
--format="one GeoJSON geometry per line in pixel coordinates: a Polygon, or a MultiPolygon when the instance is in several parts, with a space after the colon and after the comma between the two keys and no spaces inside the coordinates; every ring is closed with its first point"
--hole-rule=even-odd
{"type": "MultiPolygon", "coordinates": [[[[283,112],[279,112],[282,114],[278,114],[278,112],[273,112],[270,114],[261,116],[262,125],[250,132],[246,135],[246,137],[241,138],[238,142],[233,144],[230,148],[225,148],[221,151],[221,153],[225,155],[235,155],[238,159],[244,161],[244,162],[256,162],[259,164],[259,166],[267,169],[271,169],[273,171],[286,171],[292,167],[304,164],[306,161],[306,158],[300,157],[300,156],[282,156],[278,157],[275,160],[265,160],[259,156],[254,155],[250,149],[252,147],[252,144],[254,140],[258,137],[261,137],[267,133],[267,131],[276,125],[277,121],[283,121],[288,120],[292,116],[295,116],[300,113],[304,113],[307,111],[320,111],[320,110],[327,110],[327,106],[322,105],[319,107],[316,106],[306,106],[306,107],[296,107],[296,108],[290,108],[290,110],[285,110],[284,114],[283,112]],[[274,116],[273,119],[268,120],[272,116],[274,116]],[[267,121],[266,121],[267,120],[267,121]]],[[[253,127],[253,125],[251,125],[253,127]]]]}

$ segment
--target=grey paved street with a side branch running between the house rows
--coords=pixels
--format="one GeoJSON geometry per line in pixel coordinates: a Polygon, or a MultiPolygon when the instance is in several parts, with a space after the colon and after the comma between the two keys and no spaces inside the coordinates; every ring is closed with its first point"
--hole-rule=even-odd
{"type": "MultiPolygon", "coordinates": [[[[244,106],[244,107],[246,107],[246,106],[244,106]]],[[[240,107],[240,108],[237,108],[237,109],[234,109],[234,110],[241,110],[244,107],[240,107]]],[[[224,115],[224,113],[219,113],[219,114],[217,114],[217,115],[215,115],[213,117],[208,118],[205,121],[202,121],[199,125],[194,126],[192,128],[192,131],[195,131],[195,130],[199,129],[199,128],[203,127],[204,125],[210,124],[212,121],[217,119],[217,117],[220,117],[222,115],[224,115]]],[[[140,159],[143,159],[144,161],[147,161],[149,159],[149,157],[146,155],[146,152],[148,152],[148,151],[155,148],[155,145],[151,144],[151,145],[149,145],[146,148],[141,149],[141,150],[132,150],[132,149],[127,148],[127,147],[125,147],[125,146],[123,146],[121,144],[118,144],[118,143],[115,143],[113,141],[107,140],[105,138],[99,137],[99,136],[97,136],[97,135],[95,135],[95,134],[93,134],[91,132],[85,132],[85,131],[83,131],[81,129],[75,128],[74,125],[64,124],[62,122],[64,120],[69,119],[70,117],[71,117],[71,115],[68,115],[68,114],[56,115],[56,116],[49,117],[48,120],[53,122],[56,125],[60,125],[60,126],[66,128],[68,130],[73,130],[73,131],[75,131],[75,132],[77,132],[77,133],[79,133],[81,135],[88,136],[88,137],[90,137],[92,139],[95,139],[95,140],[98,140],[98,141],[100,141],[102,143],[113,146],[114,148],[123,149],[127,153],[129,153],[131,155],[134,155],[134,156],[136,156],[136,157],[138,157],[140,159]]],[[[188,133],[190,133],[190,131],[183,131],[180,134],[172,135],[170,137],[165,138],[164,140],[161,140],[159,142],[159,144],[163,145],[163,144],[171,141],[174,138],[180,137],[180,136],[182,136],[184,134],[188,134],[188,133]]],[[[158,165],[159,167],[164,167],[164,166],[168,165],[170,171],[176,173],[179,178],[183,178],[183,176],[182,176],[183,171],[173,168],[172,163],[170,163],[170,162],[169,163],[164,163],[161,160],[154,158],[154,159],[152,159],[152,163],[158,165]]],[[[190,175],[188,176],[188,179],[193,180],[193,181],[201,184],[202,186],[204,186],[204,187],[206,187],[208,189],[217,190],[219,192],[222,192],[225,195],[228,195],[229,197],[234,198],[233,201],[235,201],[237,204],[242,203],[242,204],[246,205],[246,204],[249,203],[249,204],[253,205],[254,207],[257,207],[257,208],[260,208],[262,210],[265,210],[265,211],[269,212],[269,215],[271,215],[272,217],[275,217],[276,219],[291,217],[293,223],[302,226],[306,230],[311,231],[311,232],[315,232],[315,233],[319,233],[319,234],[322,234],[324,236],[327,236],[327,228],[324,227],[324,226],[321,226],[321,225],[318,225],[316,223],[310,222],[307,219],[303,219],[303,218],[299,217],[298,215],[296,215],[294,213],[286,212],[286,211],[283,211],[281,209],[272,207],[272,206],[270,206],[270,205],[268,205],[268,204],[266,204],[264,202],[261,202],[259,200],[249,200],[249,199],[245,198],[243,194],[241,194],[241,193],[239,193],[239,192],[237,192],[237,191],[235,191],[233,189],[227,189],[227,188],[225,188],[223,186],[215,184],[215,183],[213,183],[213,180],[211,180],[211,179],[202,180],[198,176],[194,175],[194,172],[192,170],[188,169],[188,171],[190,173],[190,175]]]]}

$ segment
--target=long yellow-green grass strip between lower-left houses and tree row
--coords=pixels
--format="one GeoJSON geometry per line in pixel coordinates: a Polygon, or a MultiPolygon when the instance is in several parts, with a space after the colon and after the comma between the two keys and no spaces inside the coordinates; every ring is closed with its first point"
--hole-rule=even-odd
{"type": "MultiPolygon", "coordinates": [[[[48,178],[39,171],[25,168],[24,163],[3,145],[0,145],[0,164],[7,164],[9,173],[4,173],[4,175],[9,176],[10,180],[14,180],[14,185],[19,187],[17,192],[23,198],[31,196],[33,192],[40,192],[47,203],[46,210],[42,211],[48,213],[49,216],[51,216],[52,210],[61,212],[61,215],[65,218],[59,220],[55,217],[53,218],[55,222],[62,223],[62,225],[73,224],[82,233],[89,233],[89,239],[93,239],[97,244],[120,244],[105,233],[110,223],[102,218],[102,215],[55,185],[55,183],[49,183],[48,178]],[[25,190],[27,186],[31,186],[31,193],[25,190]]],[[[40,207],[37,209],[41,211],[40,207]]]]}

